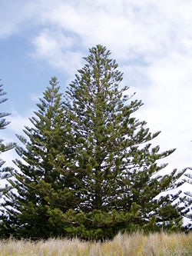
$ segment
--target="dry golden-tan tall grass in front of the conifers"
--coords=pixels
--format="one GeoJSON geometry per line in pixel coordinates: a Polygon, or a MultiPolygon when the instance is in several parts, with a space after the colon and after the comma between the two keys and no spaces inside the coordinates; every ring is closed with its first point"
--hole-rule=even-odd
{"type": "Polygon", "coordinates": [[[118,234],[113,241],[87,242],[78,239],[47,241],[0,241],[1,256],[191,256],[190,234],[118,234]]]}

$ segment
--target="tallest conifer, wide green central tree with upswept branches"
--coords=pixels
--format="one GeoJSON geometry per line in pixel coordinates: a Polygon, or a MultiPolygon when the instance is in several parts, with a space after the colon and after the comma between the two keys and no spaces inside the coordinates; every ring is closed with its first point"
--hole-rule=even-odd
{"type": "Polygon", "coordinates": [[[118,231],[180,228],[174,195],[156,198],[182,175],[161,176],[157,160],[174,152],[152,147],[145,121],[134,118],[142,103],[120,88],[122,73],[102,45],[90,49],[86,64],[68,88],[66,120],[74,138],[75,172],[81,200],[75,211],[52,211],[61,233],[81,238],[112,238],[118,231]],[[155,199],[156,198],[156,199],[155,199]]]}

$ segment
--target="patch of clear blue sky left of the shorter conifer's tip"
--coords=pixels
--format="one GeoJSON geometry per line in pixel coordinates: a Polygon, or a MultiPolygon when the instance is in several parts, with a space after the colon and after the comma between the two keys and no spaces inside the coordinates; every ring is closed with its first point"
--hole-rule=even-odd
{"type": "Polygon", "coordinates": [[[65,81],[65,74],[51,68],[46,62],[37,62],[31,56],[34,48],[31,38],[29,32],[25,36],[11,35],[0,40],[1,79],[9,98],[6,107],[13,108],[20,115],[25,115],[34,105],[31,100],[45,90],[51,75],[57,75],[60,81],[65,81]]]}

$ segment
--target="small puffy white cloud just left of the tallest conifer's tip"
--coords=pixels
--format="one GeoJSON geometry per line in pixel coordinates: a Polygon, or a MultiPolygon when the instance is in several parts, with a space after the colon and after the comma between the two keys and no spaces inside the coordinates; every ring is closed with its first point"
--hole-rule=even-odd
{"type": "Polygon", "coordinates": [[[75,41],[77,42],[78,38],[74,36],[45,29],[33,41],[35,53],[32,56],[48,62],[52,67],[68,75],[74,75],[74,72],[81,67],[82,58],[80,52],[74,52],[72,49],[75,41]]]}

